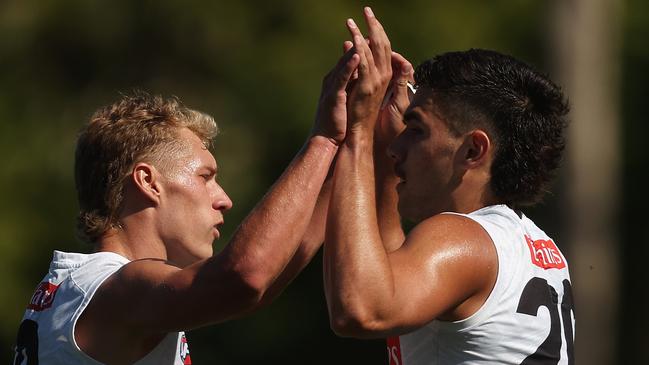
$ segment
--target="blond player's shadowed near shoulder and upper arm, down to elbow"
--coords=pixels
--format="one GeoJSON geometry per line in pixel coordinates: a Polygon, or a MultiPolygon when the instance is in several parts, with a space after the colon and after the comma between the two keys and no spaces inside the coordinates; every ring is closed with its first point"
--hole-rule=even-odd
{"type": "Polygon", "coordinates": [[[185,331],[246,313],[258,301],[219,255],[182,269],[159,259],[128,263],[97,291],[87,317],[131,333],[185,331]]]}

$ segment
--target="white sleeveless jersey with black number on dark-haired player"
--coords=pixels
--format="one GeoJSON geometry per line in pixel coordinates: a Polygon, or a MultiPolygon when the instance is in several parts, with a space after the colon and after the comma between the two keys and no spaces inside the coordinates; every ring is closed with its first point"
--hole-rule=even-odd
{"type": "Polygon", "coordinates": [[[568,264],[534,222],[505,205],[468,215],[491,236],[498,276],[482,307],[388,339],[390,364],[573,365],[575,317],[568,264]]]}

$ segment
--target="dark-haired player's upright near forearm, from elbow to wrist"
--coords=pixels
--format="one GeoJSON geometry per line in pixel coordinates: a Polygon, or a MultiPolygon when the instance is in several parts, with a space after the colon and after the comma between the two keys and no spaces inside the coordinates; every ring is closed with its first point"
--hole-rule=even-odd
{"type": "Polygon", "coordinates": [[[325,240],[325,293],[338,332],[372,326],[394,291],[376,215],[371,138],[338,153],[325,240]]]}

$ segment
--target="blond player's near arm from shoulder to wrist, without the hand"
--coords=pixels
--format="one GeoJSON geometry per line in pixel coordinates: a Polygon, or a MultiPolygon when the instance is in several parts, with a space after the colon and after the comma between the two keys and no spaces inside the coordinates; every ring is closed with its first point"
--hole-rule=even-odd
{"type": "Polygon", "coordinates": [[[183,269],[161,260],[131,262],[102,285],[93,306],[119,313],[112,319],[117,327],[121,317],[123,326],[151,333],[204,326],[258,308],[306,264],[298,260],[281,276],[300,245],[308,245],[302,252],[307,256],[317,249],[303,236],[336,150],[327,138],[309,138],[220,253],[183,269]]]}

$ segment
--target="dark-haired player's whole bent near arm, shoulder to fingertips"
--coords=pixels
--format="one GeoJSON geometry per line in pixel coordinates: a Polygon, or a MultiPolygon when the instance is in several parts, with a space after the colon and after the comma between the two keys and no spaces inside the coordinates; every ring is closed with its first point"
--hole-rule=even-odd
{"type": "MultiPolygon", "coordinates": [[[[386,82],[382,29],[368,17],[370,44],[361,54],[359,79],[386,82]],[[372,59],[373,58],[373,59],[372,59]],[[377,59],[381,59],[377,62],[377,59]],[[362,67],[367,63],[367,67],[362,67]],[[377,74],[373,74],[379,73],[377,74]]],[[[386,37],[387,38],[387,37],[386,37]]],[[[358,41],[356,40],[358,39],[358,41]]],[[[374,126],[380,98],[351,92],[349,129],[338,151],[325,240],[325,291],[333,329],[341,335],[384,337],[418,328],[435,318],[454,318],[475,310],[495,280],[495,252],[475,222],[440,215],[417,225],[400,247],[386,244],[379,227],[373,155],[374,126]]]]}

